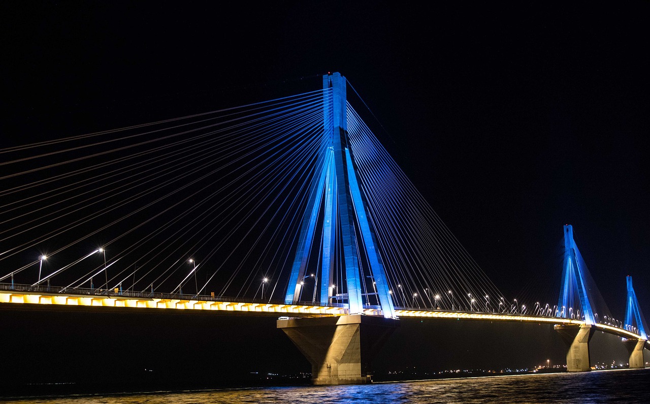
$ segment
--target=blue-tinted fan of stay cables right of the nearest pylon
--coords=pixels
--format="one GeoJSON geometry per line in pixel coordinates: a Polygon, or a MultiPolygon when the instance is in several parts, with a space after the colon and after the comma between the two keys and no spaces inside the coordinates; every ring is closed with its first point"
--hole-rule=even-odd
{"type": "Polygon", "coordinates": [[[502,294],[348,103],[357,173],[398,306],[495,311],[502,294]]]}

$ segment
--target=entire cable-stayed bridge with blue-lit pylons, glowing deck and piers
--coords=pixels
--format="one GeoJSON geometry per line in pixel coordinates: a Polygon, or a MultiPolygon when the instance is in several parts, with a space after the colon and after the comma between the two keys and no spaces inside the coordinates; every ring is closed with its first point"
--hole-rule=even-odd
{"type": "Polygon", "coordinates": [[[558,295],[506,299],[348,88],[328,74],[304,94],[0,150],[0,303],[286,317],[315,383],[369,381],[408,316],[553,324],[569,371],[590,370],[603,330],[644,366],[631,278],[621,321],[565,225],[558,295]]]}

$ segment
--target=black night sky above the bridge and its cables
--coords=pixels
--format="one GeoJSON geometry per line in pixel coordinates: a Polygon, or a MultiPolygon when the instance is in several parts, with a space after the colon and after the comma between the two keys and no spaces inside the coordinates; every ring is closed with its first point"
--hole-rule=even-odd
{"type": "Polygon", "coordinates": [[[649,315],[649,3],[207,4],[0,5],[5,146],[297,94],[341,72],[504,295],[557,293],[573,224],[612,314],[632,275],[649,315]]]}

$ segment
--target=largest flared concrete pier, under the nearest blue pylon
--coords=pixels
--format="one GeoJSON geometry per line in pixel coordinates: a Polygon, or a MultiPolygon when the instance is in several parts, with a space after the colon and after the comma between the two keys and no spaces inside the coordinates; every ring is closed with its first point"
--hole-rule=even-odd
{"type": "Polygon", "coordinates": [[[354,314],[279,319],[277,327],[311,363],[314,384],[365,384],[372,383],[372,358],[399,320],[354,314]]]}

